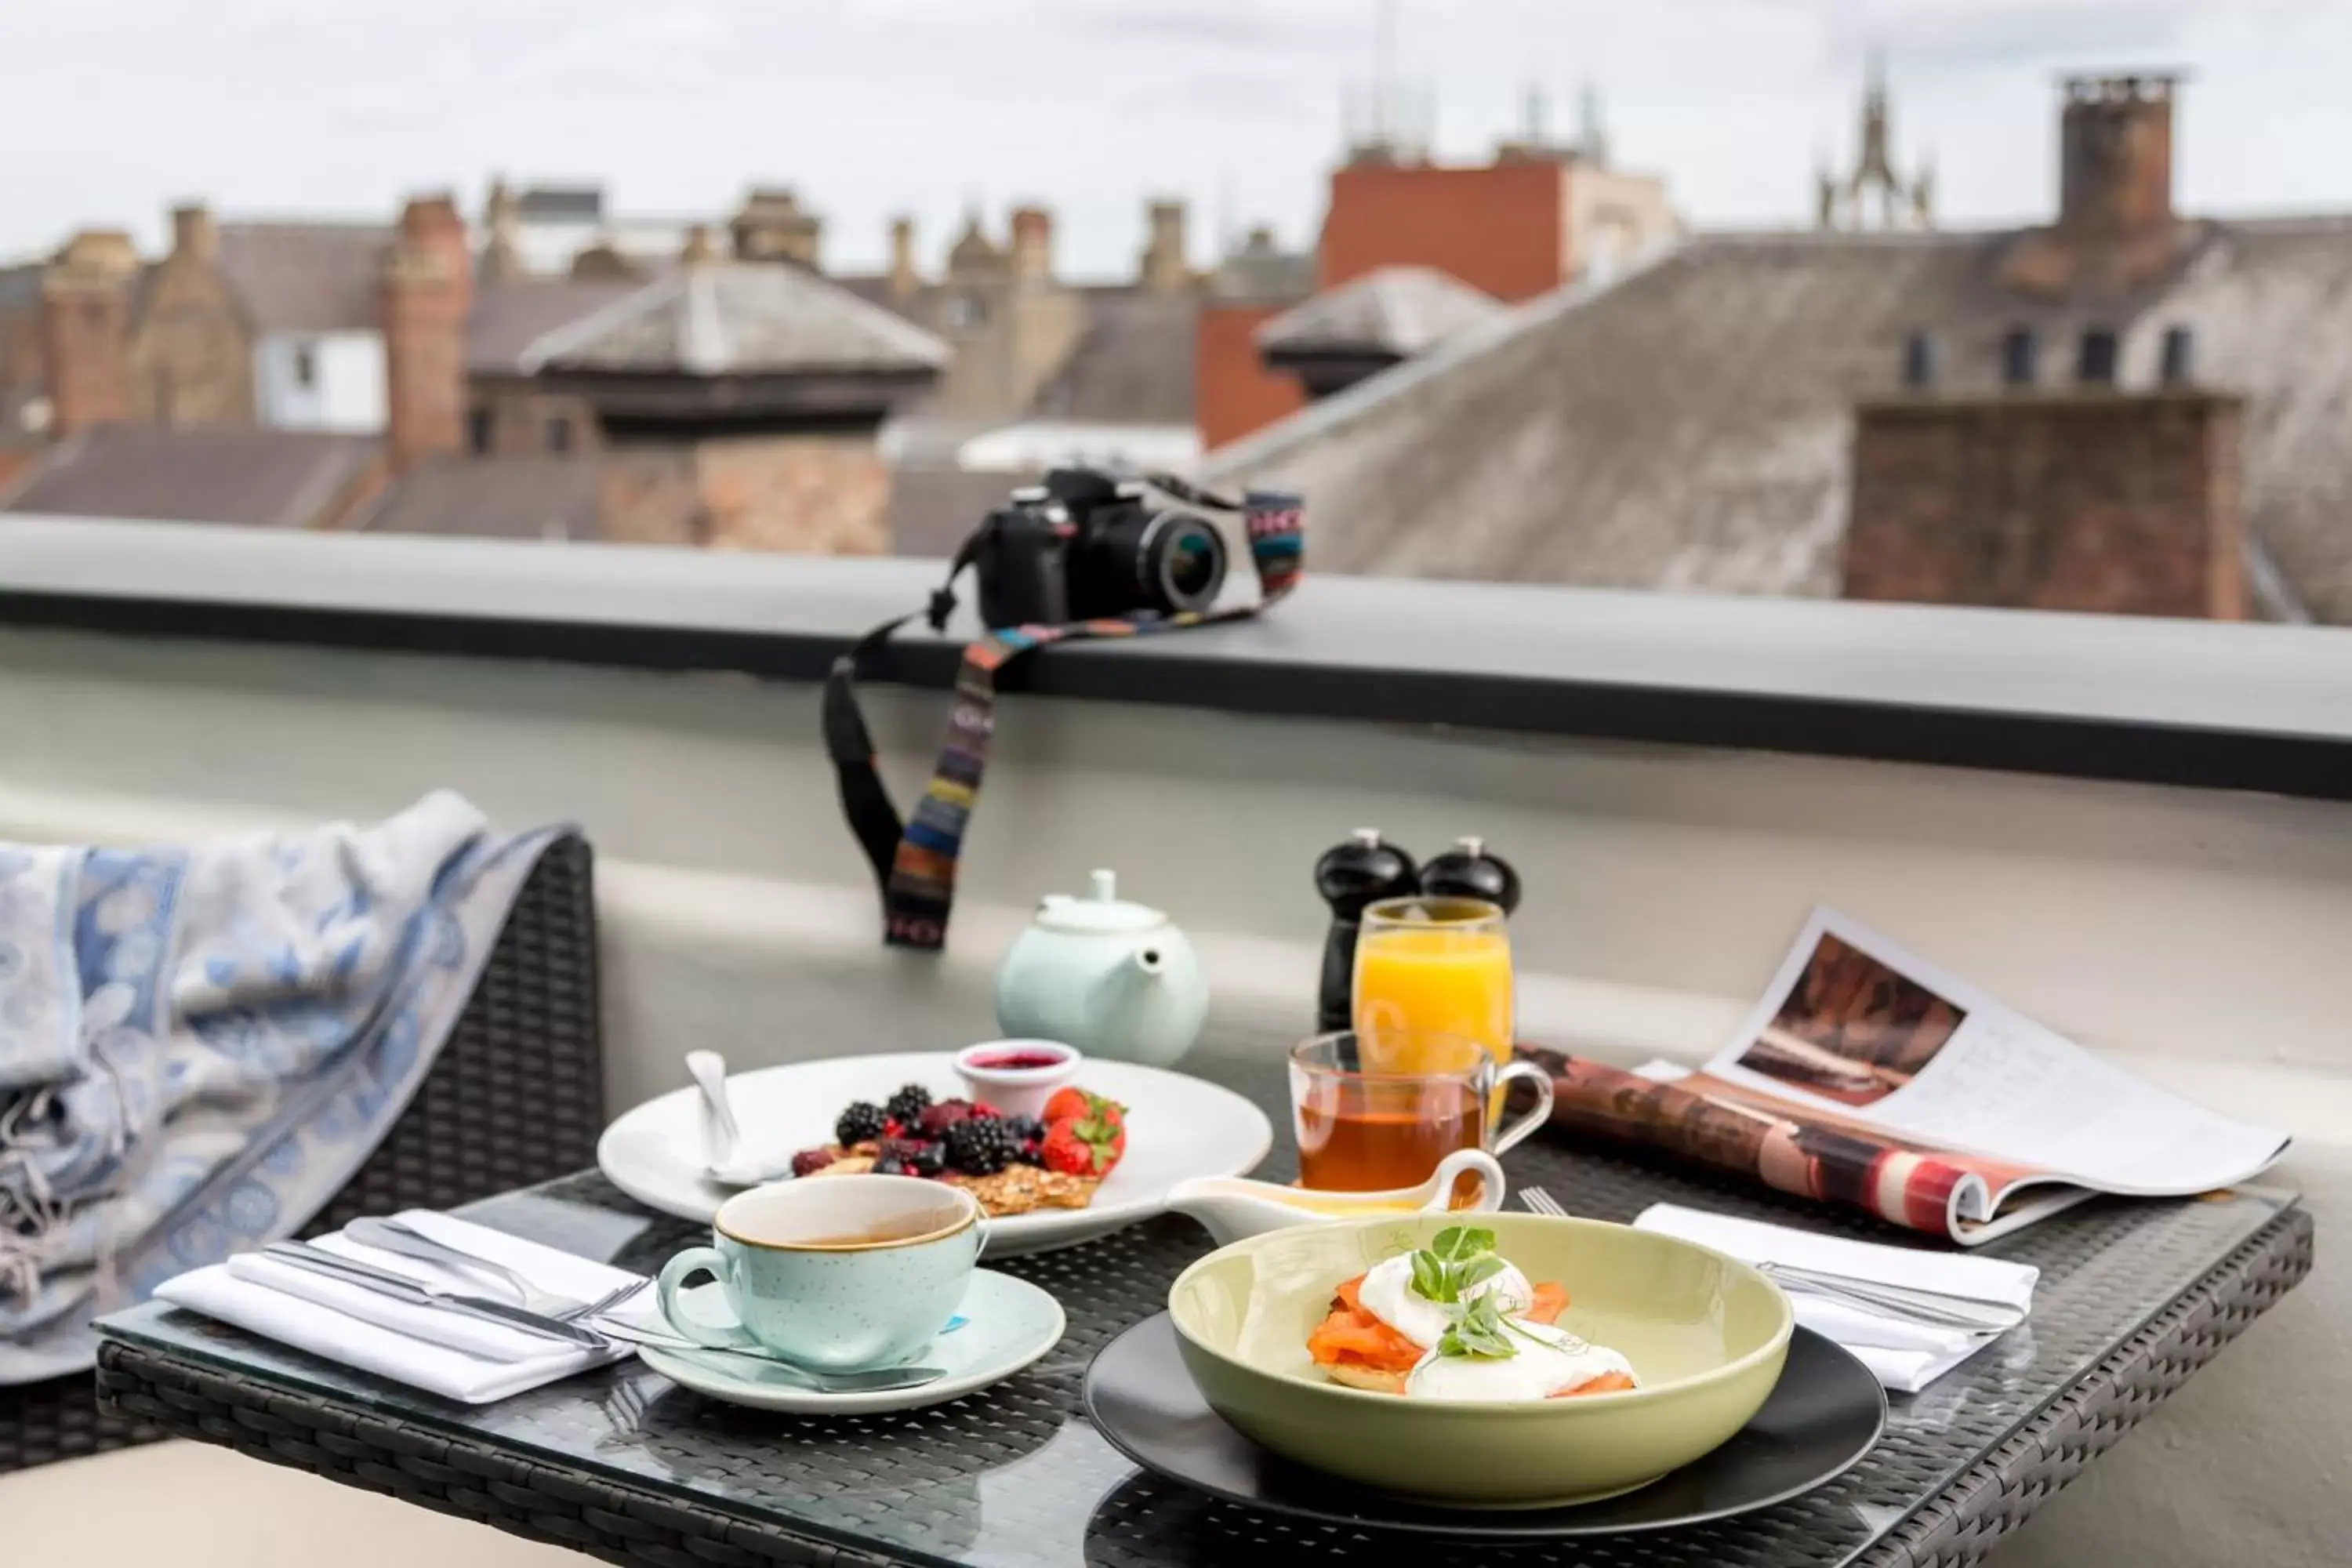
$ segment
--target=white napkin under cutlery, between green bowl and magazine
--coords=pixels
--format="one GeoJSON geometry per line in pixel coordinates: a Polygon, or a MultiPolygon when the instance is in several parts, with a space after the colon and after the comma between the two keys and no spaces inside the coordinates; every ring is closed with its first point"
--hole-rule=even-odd
{"type": "MultiPolygon", "coordinates": [[[[2018,1312],[2032,1309],[2034,1281],[2042,1279],[2042,1269],[2023,1262],[1846,1241],[1677,1204],[1651,1204],[1635,1218],[1635,1229],[1698,1241],[1743,1262],[1785,1262],[1860,1284],[1973,1295],[2018,1312]]],[[[1788,1300],[1795,1305],[1799,1324],[1851,1349],[1896,1394],[1917,1394],[1999,1338],[1882,1316],[1867,1307],[1806,1291],[1790,1291],[1788,1300]]]]}

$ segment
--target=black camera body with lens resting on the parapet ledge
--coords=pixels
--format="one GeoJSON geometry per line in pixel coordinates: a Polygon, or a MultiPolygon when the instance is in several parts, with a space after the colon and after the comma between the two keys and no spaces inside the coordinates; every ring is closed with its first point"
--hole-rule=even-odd
{"type": "Polygon", "coordinates": [[[1225,585],[1225,538],[1207,517],[1162,508],[1150,484],[1056,468],[1016,489],[964,545],[981,621],[1068,625],[1209,609],[1225,585]]]}

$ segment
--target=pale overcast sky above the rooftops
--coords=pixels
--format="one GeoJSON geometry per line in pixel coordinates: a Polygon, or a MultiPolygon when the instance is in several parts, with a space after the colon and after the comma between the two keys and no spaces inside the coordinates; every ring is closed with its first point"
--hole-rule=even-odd
{"type": "MultiPolygon", "coordinates": [[[[2187,66],[2180,183],[2206,212],[2352,209],[2345,0],[1397,0],[1437,146],[1482,155],[1529,82],[1606,99],[1621,162],[1700,226],[1806,216],[1879,42],[1900,158],[1950,221],[2042,214],[2063,68],[2187,66]]],[[[381,216],[492,172],[602,179],[637,212],[793,183],[833,266],[891,212],[931,256],[967,202],[1044,200],[1080,275],[1131,266],[1150,193],[1305,242],[1374,68],[1374,0],[49,0],[0,7],[0,256],[80,223],[381,216]]]]}

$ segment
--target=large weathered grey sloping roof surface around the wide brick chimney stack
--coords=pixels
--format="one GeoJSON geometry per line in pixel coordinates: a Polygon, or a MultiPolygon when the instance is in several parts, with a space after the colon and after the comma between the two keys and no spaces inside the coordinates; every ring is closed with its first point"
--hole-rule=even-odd
{"type": "Polygon", "coordinates": [[[1936,334],[1990,388],[2030,324],[2042,376],[2089,324],[2145,383],[2166,327],[2249,400],[2246,520],[2314,618],[2352,623],[2352,219],[2209,223],[2161,284],[2079,306],[1999,282],[2020,237],[1708,235],[1562,289],[1218,451],[1207,475],[1308,494],[1315,567],[1604,588],[1830,595],[1856,400],[1936,334]]]}

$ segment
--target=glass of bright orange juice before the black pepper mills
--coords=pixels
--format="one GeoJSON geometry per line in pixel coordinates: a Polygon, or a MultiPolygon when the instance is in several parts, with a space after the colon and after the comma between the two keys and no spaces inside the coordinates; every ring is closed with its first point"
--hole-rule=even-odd
{"type": "Polygon", "coordinates": [[[1432,1037],[1470,1039],[1510,1060],[1510,933],[1482,898],[1383,898],[1355,940],[1355,1034],[1371,1072],[1435,1072],[1432,1037]]]}

